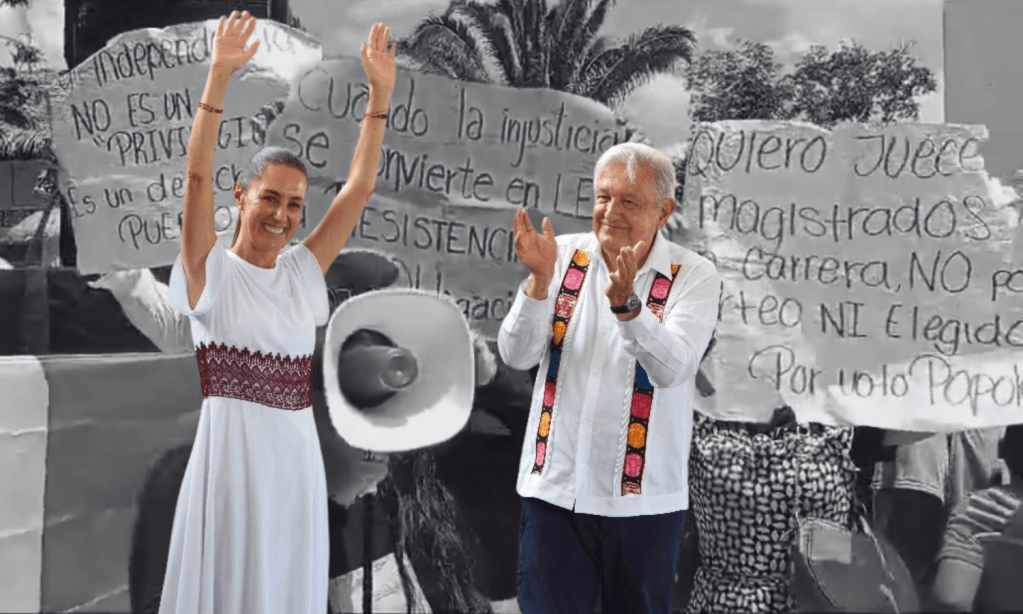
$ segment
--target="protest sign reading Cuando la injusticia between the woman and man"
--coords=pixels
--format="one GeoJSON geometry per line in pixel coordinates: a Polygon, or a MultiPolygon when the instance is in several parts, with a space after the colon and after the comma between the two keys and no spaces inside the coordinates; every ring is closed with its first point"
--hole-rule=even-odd
{"type": "MultiPolygon", "coordinates": [[[[309,170],[307,220],[322,219],[348,177],[367,94],[361,62],[325,60],[294,81],[270,126],[268,144],[309,170]]],[[[625,140],[612,112],[586,98],[403,70],[387,127],[376,188],[348,246],[396,259],[399,284],[450,295],[488,336],[528,274],[515,212],[526,208],[537,228],[549,216],[558,234],[591,230],[593,165],[625,140]]]]}

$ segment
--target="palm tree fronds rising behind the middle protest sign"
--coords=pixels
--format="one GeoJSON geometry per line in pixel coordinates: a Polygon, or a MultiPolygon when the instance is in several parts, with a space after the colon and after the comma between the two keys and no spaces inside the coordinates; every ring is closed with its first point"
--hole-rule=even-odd
{"type": "Polygon", "coordinates": [[[598,35],[615,0],[453,0],[399,41],[410,69],[461,81],[548,88],[618,107],[637,88],[688,63],[696,36],[652,26],[625,39],[598,35]]]}

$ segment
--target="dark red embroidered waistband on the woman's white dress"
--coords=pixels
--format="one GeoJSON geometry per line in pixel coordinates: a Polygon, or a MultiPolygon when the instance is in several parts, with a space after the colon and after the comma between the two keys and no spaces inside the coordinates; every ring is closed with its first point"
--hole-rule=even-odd
{"type": "Polygon", "coordinates": [[[264,354],[224,344],[195,349],[203,397],[228,397],[278,409],[313,404],[313,357],[264,354]]]}

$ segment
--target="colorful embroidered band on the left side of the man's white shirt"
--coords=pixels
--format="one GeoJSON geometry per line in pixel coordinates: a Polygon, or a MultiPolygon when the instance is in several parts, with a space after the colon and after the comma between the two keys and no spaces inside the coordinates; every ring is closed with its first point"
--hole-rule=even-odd
{"type": "Polygon", "coordinates": [[[569,262],[569,268],[562,279],[562,288],[558,292],[558,302],[554,308],[554,322],[551,325],[550,362],[547,365],[547,380],[543,386],[543,405],[540,408],[540,426],[536,432],[536,457],[533,459],[533,474],[540,474],[547,459],[547,441],[550,435],[550,421],[554,413],[554,397],[558,392],[558,369],[562,362],[562,348],[569,322],[579,302],[579,291],[586,279],[589,270],[589,256],[582,250],[576,250],[569,262]]]}

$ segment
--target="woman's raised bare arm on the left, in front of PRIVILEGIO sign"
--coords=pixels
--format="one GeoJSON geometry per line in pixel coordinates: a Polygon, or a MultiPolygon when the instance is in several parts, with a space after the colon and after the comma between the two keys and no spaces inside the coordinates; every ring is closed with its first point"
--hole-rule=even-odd
{"type": "Polygon", "coordinates": [[[188,304],[194,308],[206,288],[206,258],[217,243],[213,221],[213,157],[223,113],[224,96],[231,76],[256,54],[259,41],[246,49],[256,30],[256,18],[248,11],[220,17],[213,38],[210,75],[203,101],[195,112],[188,157],[185,162],[185,202],[181,222],[181,266],[188,283],[188,304]]]}

